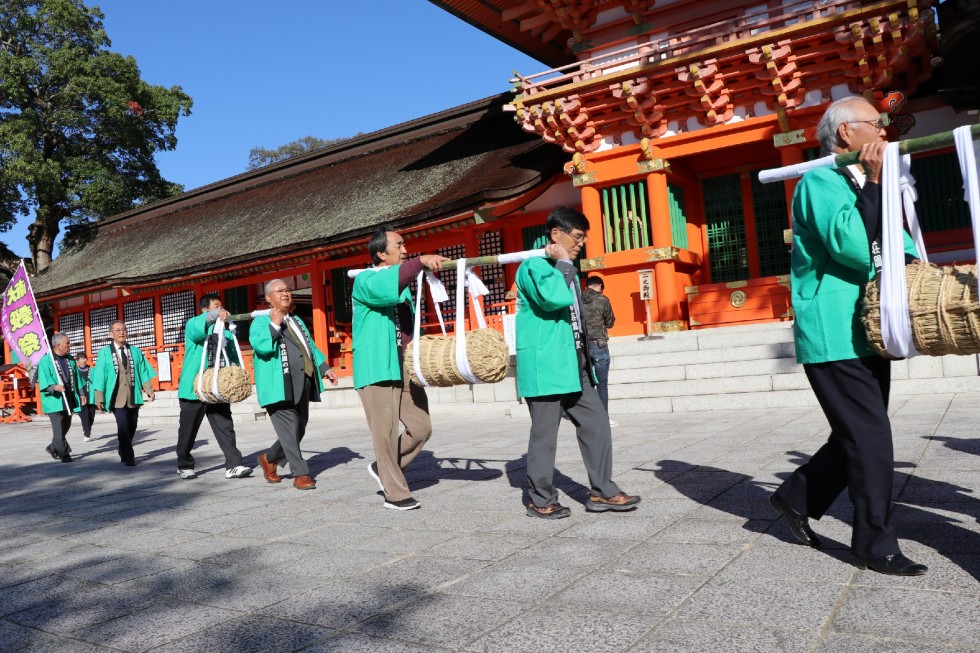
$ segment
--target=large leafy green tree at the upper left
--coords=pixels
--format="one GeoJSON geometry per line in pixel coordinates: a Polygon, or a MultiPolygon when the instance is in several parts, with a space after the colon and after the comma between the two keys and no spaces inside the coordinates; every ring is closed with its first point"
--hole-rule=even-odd
{"type": "Polygon", "coordinates": [[[0,232],[33,213],[40,272],[62,224],[90,222],[181,192],[153,156],[177,146],[191,98],[143,81],[110,52],[98,7],[82,0],[2,0],[0,232]]]}

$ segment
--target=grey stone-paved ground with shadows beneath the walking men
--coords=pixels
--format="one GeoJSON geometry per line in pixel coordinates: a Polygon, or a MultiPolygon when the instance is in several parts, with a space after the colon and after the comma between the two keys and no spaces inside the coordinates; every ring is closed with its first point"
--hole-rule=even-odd
{"type": "MultiPolygon", "coordinates": [[[[436,416],[411,468],[422,509],[383,510],[363,417],[331,412],[304,442],[319,488],[226,480],[205,425],[200,478],[175,473],[173,427],[112,424],[44,452],[46,420],[0,425],[0,650],[980,651],[980,395],[893,405],[896,523],[929,565],[891,578],[849,564],[843,497],[792,544],[767,502],[826,438],[813,408],[617,416],[615,478],[632,514],[592,515],[574,431],[559,485],[573,512],[521,504],[529,422],[436,416]]],[[[239,428],[253,461],[267,421],[239,428]]]]}

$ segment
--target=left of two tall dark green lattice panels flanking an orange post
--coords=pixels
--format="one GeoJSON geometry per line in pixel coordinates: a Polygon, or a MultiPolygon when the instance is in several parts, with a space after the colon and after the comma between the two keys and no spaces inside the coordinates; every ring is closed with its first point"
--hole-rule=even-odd
{"type": "Polygon", "coordinates": [[[739,174],[711,177],[701,182],[704,219],[708,228],[711,282],[738,281],[749,276],[739,174]]]}

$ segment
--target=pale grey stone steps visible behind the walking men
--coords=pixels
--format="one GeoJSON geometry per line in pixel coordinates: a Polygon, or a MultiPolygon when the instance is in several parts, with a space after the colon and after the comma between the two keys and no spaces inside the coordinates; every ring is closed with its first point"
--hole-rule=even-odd
{"type": "MultiPolygon", "coordinates": [[[[640,340],[610,341],[609,412],[669,413],[699,410],[816,406],[796,364],[790,322],[682,331],[640,340]]],[[[920,356],[892,364],[892,394],[980,392],[977,356],[920,356]]],[[[485,414],[527,419],[517,396],[514,370],[493,385],[429,388],[434,415],[485,414]]],[[[360,415],[351,379],[311,404],[311,419],[360,415]]],[[[140,411],[140,424],[176,424],[175,392],[161,392],[140,411]]],[[[232,407],[237,422],[265,419],[253,395],[232,407]]]]}

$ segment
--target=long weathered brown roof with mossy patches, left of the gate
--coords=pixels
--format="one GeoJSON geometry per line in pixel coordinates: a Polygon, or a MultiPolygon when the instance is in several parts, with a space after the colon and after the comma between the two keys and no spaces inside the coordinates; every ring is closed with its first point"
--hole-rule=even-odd
{"type": "MultiPolygon", "coordinates": [[[[257,262],[500,202],[565,155],[523,133],[501,95],[360,136],[89,226],[34,280],[40,295],[257,262]]],[[[76,234],[77,236],[77,234],[76,234]]]]}

